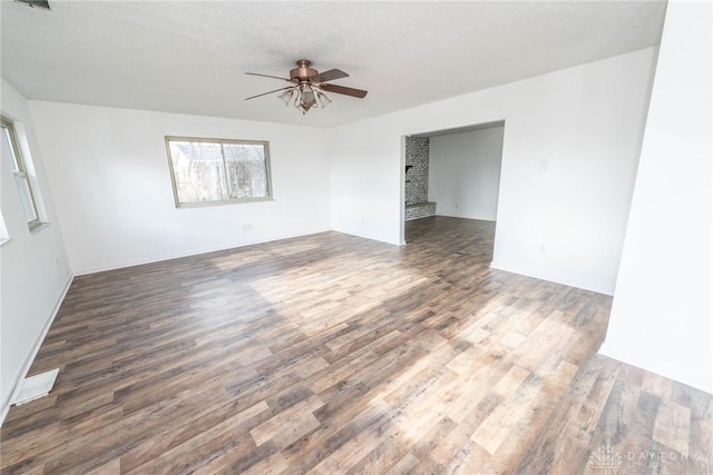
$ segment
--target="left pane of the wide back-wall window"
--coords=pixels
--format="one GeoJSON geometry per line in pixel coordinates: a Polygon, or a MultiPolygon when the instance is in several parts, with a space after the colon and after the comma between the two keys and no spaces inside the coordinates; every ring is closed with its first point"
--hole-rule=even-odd
{"type": "Polygon", "coordinates": [[[178,202],[226,199],[221,144],[172,141],[178,202]]]}

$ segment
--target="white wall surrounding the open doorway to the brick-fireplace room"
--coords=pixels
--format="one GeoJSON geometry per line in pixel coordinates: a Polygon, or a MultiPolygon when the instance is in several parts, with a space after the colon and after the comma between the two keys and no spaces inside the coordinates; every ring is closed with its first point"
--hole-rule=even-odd
{"type": "Polygon", "coordinates": [[[400,244],[401,136],[505,120],[494,267],[612,294],[654,48],[332,129],[332,226],[400,244]]]}

